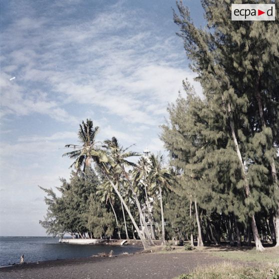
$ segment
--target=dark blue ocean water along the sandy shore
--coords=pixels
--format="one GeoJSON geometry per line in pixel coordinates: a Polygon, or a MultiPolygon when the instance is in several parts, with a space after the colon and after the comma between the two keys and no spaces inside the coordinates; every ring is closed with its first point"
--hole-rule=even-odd
{"type": "Polygon", "coordinates": [[[25,262],[49,259],[79,258],[113,250],[114,254],[133,253],[141,250],[136,246],[78,245],[59,243],[58,238],[33,236],[0,236],[0,265],[19,263],[24,254],[25,262]]]}

